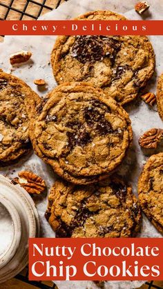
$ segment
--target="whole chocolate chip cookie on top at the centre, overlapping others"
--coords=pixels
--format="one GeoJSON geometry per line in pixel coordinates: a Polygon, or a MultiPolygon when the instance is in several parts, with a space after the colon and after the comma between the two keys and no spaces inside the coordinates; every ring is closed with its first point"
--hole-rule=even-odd
{"type": "Polygon", "coordinates": [[[63,83],[30,123],[32,146],[60,177],[88,184],[108,176],[132,140],[127,112],[103,90],[63,83]]]}

